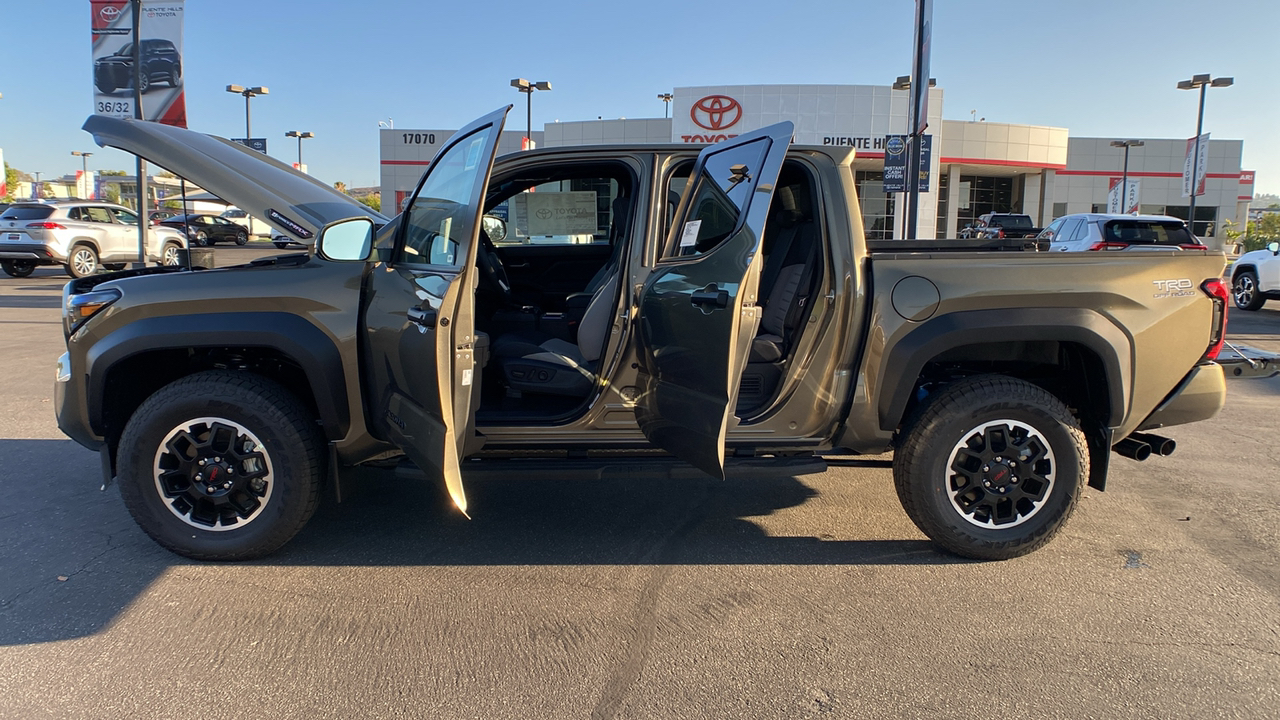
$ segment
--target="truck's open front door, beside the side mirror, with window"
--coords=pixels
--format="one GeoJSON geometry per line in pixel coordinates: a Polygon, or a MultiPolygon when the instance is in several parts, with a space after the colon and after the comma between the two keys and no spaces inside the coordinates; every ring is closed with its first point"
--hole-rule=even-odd
{"type": "Polygon", "coordinates": [[[374,425],[463,514],[460,461],[480,382],[475,264],[480,214],[503,108],[460,129],[431,161],[396,231],[390,260],[374,265],[365,341],[374,425]]]}

